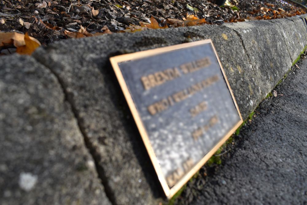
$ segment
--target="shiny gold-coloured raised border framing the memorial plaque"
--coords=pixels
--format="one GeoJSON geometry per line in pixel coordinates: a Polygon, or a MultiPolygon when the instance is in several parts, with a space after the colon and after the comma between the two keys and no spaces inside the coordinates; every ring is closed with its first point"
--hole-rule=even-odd
{"type": "Polygon", "coordinates": [[[233,96],[232,90],[231,90],[230,85],[228,83],[227,77],[224,73],[220,59],[217,56],[216,49],[214,48],[212,40],[206,39],[206,40],[194,41],[194,42],[183,43],[183,44],[178,44],[178,45],[171,45],[171,46],[157,48],[157,49],[150,49],[150,50],[140,51],[140,52],[136,52],[136,53],[123,54],[123,55],[111,57],[110,61],[111,61],[111,65],[114,69],[115,75],[116,75],[116,77],[119,81],[119,85],[122,88],[122,92],[124,93],[124,96],[126,98],[128,106],[131,110],[132,116],[133,116],[135,123],[138,127],[138,130],[139,130],[139,132],[142,136],[142,140],[143,140],[145,147],[147,149],[147,152],[150,156],[151,162],[153,163],[153,167],[155,168],[155,170],[157,172],[158,178],[159,178],[160,183],[162,185],[162,188],[165,192],[165,195],[168,199],[171,199],[173,197],[173,195],[175,195],[177,193],[177,191],[179,191],[181,189],[181,187],[183,185],[185,185],[185,183],[187,183],[189,179],[191,179],[191,177],[210,159],[210,157],[226,142],[226,140],[243,123],[240,110],[239,110],[238,105],[235,101],[235,97],[233,96]],[[220,65],[220,69],[221,69],[223,77],[226,81],[226,84],[227,84],[227,87],[228,87],[229,92],[231,94],[232,100],[235,104],[235,108],[237,109],[237,112],[239,114],[240,121],[223,137],[222,140],[220,140],[220,142],[218,144],[216,144],[196,165],[194,165],[194,167],[190,171],[188,171],[173,187],[169,188],[169,185],[167,184],[166,179],[165,179],[165,177],[162,173],[161,167],[158,163],[158,160],[156,158],[154,150],[153,150],[153,148],[150,144],[150,140],[148,138],[146,129],[145,129],[143,123],[142,123],[142,120],[141,120],[141,118],[138,114],[138,111],[135,107],[135,104],[132,100],[129,89],[128,89],[126,82],[124,80],[124,77],[122,76],[122,72],[120,71],[118,63],[124,62],[124,61],[133,61],[133,60],[136,60],[136,59],[139,59],[139,58],[150,57],[150,56],[154,56],[154,55],[161,54],[161,53],[167,53],[167,52],[173,51],[173,50],[180,50],[180,49],[193,47],[193,46],[197,46],[197,45],[202,45],[202,44],[207,44],[207,43],[210,43],[213,50],[214,50],[214,54],[215,54],[216,59],[217,59],[219,65],[220,65]]]}

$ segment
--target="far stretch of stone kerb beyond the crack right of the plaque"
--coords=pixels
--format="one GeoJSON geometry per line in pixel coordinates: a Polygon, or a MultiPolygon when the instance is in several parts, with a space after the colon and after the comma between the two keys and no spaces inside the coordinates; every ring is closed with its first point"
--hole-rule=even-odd
{"type": "Polygon", "coordinates": [[[306,26],[300,18],[224,24],[241,37],[258,78],[260,97],[254,104],[274,88],[307,45],[306,26]]]}

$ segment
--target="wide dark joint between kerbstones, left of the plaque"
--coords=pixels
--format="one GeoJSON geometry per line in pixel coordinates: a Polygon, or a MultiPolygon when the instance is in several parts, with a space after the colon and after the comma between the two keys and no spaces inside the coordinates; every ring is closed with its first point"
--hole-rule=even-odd
{"type": "Polygon", "coordinates": [[[74,105],[73,100],[70,99],[70,97],[69,97],[69,94],[67,92],[64,81],[62,81],[60,76],[51,67],[49,67],[47,64],[45,64],[44,61],[41,61],[39,58],[37,58],[35,56],[33,56],[33,57],[38,62],[45,65],[45,67],[48,68],[51,71],[51,73],[53,73],[56,76],[57,80],[59,81],[60,86],[61,86],[63,93],[64,93],[64,96],[65,96],[65,101],[67,101],[70,104],[71,109],[72,109],[72,113],[74,114],[74,116],[76,118],[78,128],[79,128],[79,130],[80,130],[80,132],[83,136],[83,139],[84,139],[84,144],[85,144],[86,148],[88,149],[90,155],[92,156],[92,158],[95,162],[95,168],[96,168],[96,171],[97,171],[97,174],[98,174],[98,178],[101,180],[101,183],[104,187],[104,192],[105,192],[107,198],[109,199],[109,201],[113,205],[117,205],[117,203],[115,202],[115,195],[111,191],[112,189],[111,189],[109,183],[107,182],[107,177],[105,175],[105,171],[104,171],[103,167],[99,165],[99,160],[98,160],[99,157],[97,156],[97,153],[95,153],[95,148],[90,143],[89,137],[87,136],[87,134],[85,132],[85,128],[83,128],[83,126],[81,125],[81,122],[80,122],[81,120],[80,120],[79,114],[76,110],[76,106],[74,105]]]}

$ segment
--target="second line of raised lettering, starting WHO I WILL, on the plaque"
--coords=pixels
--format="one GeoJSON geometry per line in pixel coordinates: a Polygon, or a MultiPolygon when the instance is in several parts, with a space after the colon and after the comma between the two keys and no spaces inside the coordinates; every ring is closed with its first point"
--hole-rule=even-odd
{"type": "Polygon", "coordinates": [[[189,96],[192,96],[196,92],[208,87],[209,85],[212,85],[214,82],[218,80],[220,80],[220,77],[218,75],[209,77],[208,79],[200,81],[199,83],[196,83],[191,87],[188,87],[187,89],[181,90],[167,98],[162,99],[161,101],[149,105],[147,107],[147,110],[151,115],[155,115],[159,112],[166,110],[167,108],[169,108],[169,106],[172,106],[175,102],[177,103],[185,100],[189,96]]]}

